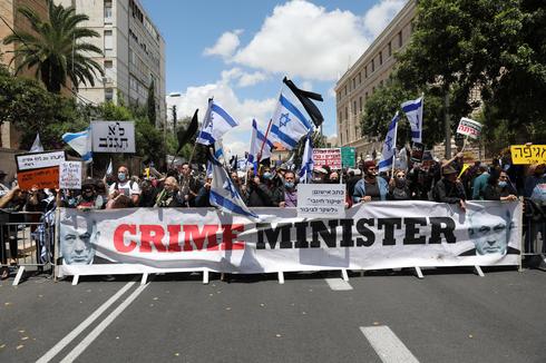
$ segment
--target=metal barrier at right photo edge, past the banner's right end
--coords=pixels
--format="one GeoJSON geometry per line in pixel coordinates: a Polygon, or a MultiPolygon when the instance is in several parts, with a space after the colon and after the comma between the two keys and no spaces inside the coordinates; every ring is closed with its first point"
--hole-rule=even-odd
{"type": "Polygon", "coordinates": [[[546,269],[546,206],[525,198],[524,252],[527,265],[546,269]]]}

